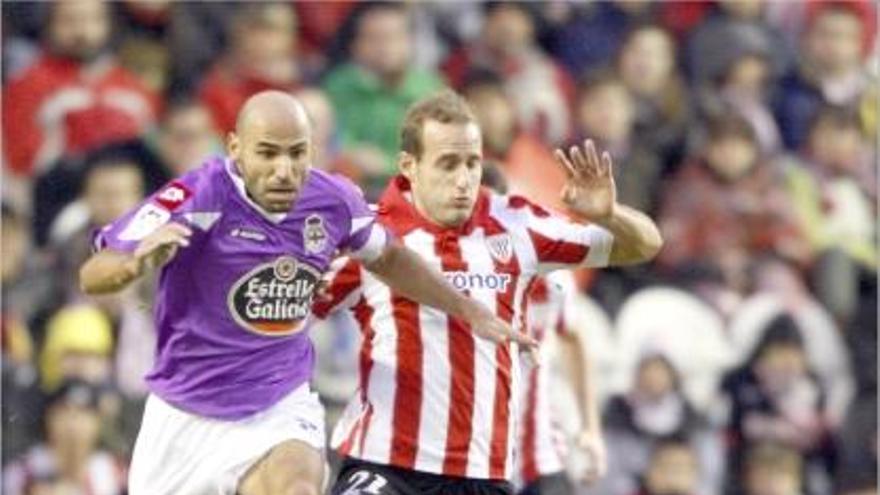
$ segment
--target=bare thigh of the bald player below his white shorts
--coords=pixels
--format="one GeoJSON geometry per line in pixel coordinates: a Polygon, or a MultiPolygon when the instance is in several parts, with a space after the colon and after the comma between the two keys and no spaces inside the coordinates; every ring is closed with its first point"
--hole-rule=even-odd
{"type": "Polygon", "coordinates": [[[239,495],[318,495],[324,458],[300,440],[286,440],[257,461],[238,484],[239,495]]]}

